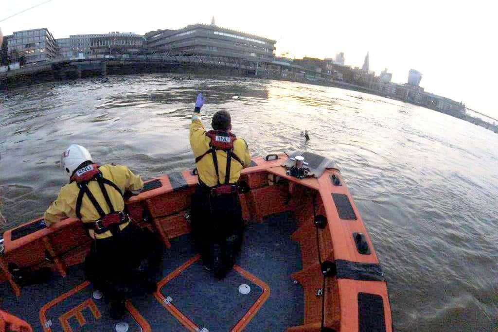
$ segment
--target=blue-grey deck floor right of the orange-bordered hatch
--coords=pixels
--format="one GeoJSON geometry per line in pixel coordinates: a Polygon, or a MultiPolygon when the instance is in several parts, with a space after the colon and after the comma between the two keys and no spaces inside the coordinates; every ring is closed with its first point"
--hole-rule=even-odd
{"type": "Polygon", "coordinates": [[[244,331],[285,331],[303,324],[303,288],[291,278],[302,269],[299,244],[290,238],[296,229],[291,213],[248,224],[237,264],[264,281],[270,296],[244,331]]]}

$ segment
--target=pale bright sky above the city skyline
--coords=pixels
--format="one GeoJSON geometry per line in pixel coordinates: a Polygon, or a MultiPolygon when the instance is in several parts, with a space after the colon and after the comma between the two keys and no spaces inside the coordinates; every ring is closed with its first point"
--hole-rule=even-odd
{"type": "MultiPolygon", "coordinates": [[[[43,0],[2,1],[0,20],[43,0]]],[[[0,22],[4,35],[47,27],[55,38],[110,31],[143,34],[211,22],[277,41],[275,54],[335,58],[384,68],[498,118],[497,8],[493,1],[106,1],[52,0],[0,22]]]]}

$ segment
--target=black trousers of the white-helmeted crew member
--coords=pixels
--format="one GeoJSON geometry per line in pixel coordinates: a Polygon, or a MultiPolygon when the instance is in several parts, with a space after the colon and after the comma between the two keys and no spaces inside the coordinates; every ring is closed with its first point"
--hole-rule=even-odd
{"type": "Polygon", "coordinates": [[[124,300],[143,293],[146,280],[155,280],[162,251],[162,242],[151,231],[130,223],[111,237],[94,240],[85,274],[111,300],[124,300]]]}

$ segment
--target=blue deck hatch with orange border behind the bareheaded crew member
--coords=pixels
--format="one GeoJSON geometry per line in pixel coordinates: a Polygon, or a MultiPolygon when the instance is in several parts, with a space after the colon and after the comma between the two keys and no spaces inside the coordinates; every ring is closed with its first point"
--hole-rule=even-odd
{"type": "Polygon", "coordinates": [[[197,255],[160,281],[154,296],[189,330],[240,331],[268,295],[266,284],[237,265],[222,281],[216,280],[197,255]],[[241,284],[251,291],[240,293],[241,284]],[[174,302],[167,301],[170,296],[174,302]]]}

